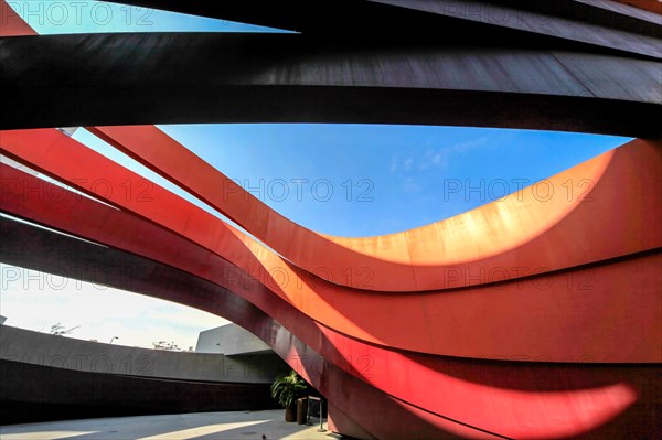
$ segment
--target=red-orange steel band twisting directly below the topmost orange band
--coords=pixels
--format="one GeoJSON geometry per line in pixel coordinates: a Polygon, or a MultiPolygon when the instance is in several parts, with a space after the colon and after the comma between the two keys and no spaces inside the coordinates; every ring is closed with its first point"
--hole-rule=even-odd
{"type": "MultiPolygon", "coordinates": [[[[418,296],[384,297],[343,288],[291,267],[253,239],[156,185],[150,192],[154,203],[125,200],[126,195],[118,189],[141,178],[55,130],[9,131],[2,133],[0,142],[8,154],[14,154],[17,159],[22,157],[38,168],[47,168],[53,175],[70,183],[77,180],[92,194],[104,195],[98,193],[107,191],[106,186],[100,191],[98,187],[94,191],[93,186],[97,179],[106,176],[106,185],[116,189],[114,194],[105,194],[106,201],[201,244],[261,280],[271,291],[317,321],[366,342],[424,353],[488,358],[502,356],[508,347],[510,353],[540,353],[553,359],[585,355],[586,344],[595,351],[591,356],[602,362],[659,362],[661,358],[660,351],[651,347],[660,340],[662,330],[655,325],[658,316],[645,311],[641,315],[623,316],[619,325],[609,324],[615,329],[612,332],[591,326],[583,330],[579,340],[577,334],[568,333],[563,336],[565,342],[558,340],[558,329],[584,328],[586,320],[610,322],[618,310],[616,304],[631,298],[627,290],[615,287],[618,283],[600,285],[604,290],[596,287],[590,293],[596,301],[587,304],[583,314],[567,313],[567,308],[575,307],[578,294],[585,296],[579,289],[586,286],[576,279],[568,281],[564,273],[553,273],[542,281],[537,278],[515,279],[503,285],[418,296]],[[542,297],[524,293],[538,292],[543,288],[545,294],[542,297]],[[598,297],[604,299],[607,294],[621,299],[597,301],[598,297]],[[640,320],[648,328],[631,325],[640,320]],[[541,321],[546,325],[538,325],[541,321]],[[463,323],[472,323],[471,330],[468,331],[463,323]],[[629,326],[647,330],[641,330],[641,335],[637,336],[633,330],[616,331],[629,326]],[[639,336],[643,343],[636,344],[634,351],[627,355],[619,345],[612,344],[639,336]]],[[[645,143],[636,142],[630,147],[623,151],[630,151],[630,159],[637,160],[624,160],[627,164],[641,164],[645,169],[647,162],[639,161],[644,159],[650,164],[655,159],[647,154],[655,150],[645,143]]],[[[653,300],[654,290],[650,289],[654,285],[651,286],[647,296],[653,300]]]]}

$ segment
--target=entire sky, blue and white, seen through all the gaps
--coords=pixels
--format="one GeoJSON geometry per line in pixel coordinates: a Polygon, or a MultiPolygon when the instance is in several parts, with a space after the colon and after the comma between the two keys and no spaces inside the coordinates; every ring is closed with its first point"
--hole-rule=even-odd
{"type": "MultiPolygon", "coordinates": [[[[78,10],[71,4],[76,2],[66,1],[9,3],[42,34],[273,31],[92,1],[78,10]],[[28,4],[36,3],[41,7],[29,9],[28,4]]],[[[342,236],[382,235],[448,218],[506,195],[522,182],[532,184],[628,141],[578,133],[420,126],[160,128],[287,217],[342,236]],[[450,191],[451,185],[459,185],[459,191],[450,191]]],[[[74,137],[186,196],[89,132],[78,130],[74,137]]],[[[9,325],[44,331],[62,322],[67,328],[82,325],[72,334],[75,337],[107,342],[119,336],[119,343],[140,346],[168,340],[188,347],[195,345],[197,332],[225,323],[178,304],[75,281],[62,288],[63,281],[56,277],[14,269],[1,267],[0,313],[9,318],[9,325]]]]}

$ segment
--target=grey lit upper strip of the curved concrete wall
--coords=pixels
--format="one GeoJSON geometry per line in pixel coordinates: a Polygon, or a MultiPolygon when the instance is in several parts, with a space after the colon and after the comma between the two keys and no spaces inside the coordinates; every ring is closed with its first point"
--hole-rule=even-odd
{"type": "MultiPolygon", "coordinates": [[[[255,337],[255,336],[254,336],[255,337]]],[[[0,326],[0,358],[55,368],[131,376],[270,384],[289,369],[276,354],[227,357],[87,342],[0,326]]]]}

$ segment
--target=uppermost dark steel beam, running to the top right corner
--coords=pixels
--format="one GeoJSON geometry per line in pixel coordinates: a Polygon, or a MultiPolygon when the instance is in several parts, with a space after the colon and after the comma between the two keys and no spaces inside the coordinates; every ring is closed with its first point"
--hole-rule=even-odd
{"type": "MultiPolygon", "coordinates": [[[[335,41],[458,42],[477,44],[563,40],[662,57],[662,26],[575,0],[122,0],[121,3],[293,30],[335,41]]],[[[622,7],[622,6],[621,6],[622,7]]],[[[643,13],[643,11],[642,11],[643,13]]],[[[648,15],[656,17],[648,13],[648,15]]],[[[648,17],[647,15],[647,17],[648,17]]]]}

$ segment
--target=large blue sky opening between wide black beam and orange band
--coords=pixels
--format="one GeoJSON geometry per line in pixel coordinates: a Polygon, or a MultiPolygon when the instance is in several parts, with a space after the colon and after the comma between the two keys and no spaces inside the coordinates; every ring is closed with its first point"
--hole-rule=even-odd
{"type": "Polygon", "coordinates": [[[161,129],[281,214],[342,236],[388,234],[451,217],[628,140],[426,126],[161,129]],[[457,184],[460,190],[451,191],[457,184]]]}

